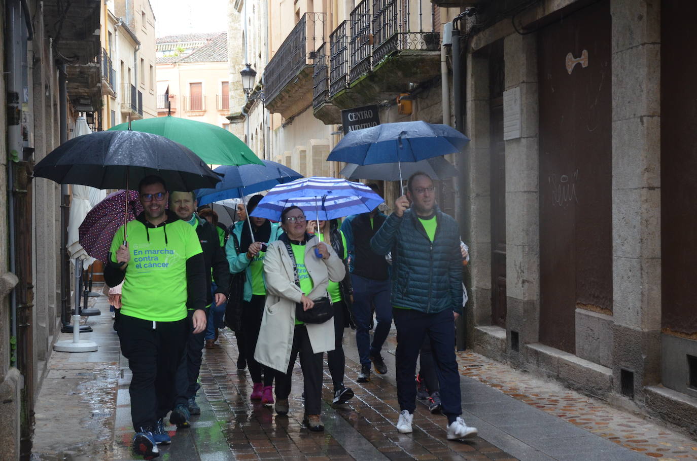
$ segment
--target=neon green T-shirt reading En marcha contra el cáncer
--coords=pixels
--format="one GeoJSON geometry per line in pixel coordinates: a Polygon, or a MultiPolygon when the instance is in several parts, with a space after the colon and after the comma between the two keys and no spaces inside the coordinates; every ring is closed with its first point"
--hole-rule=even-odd
{"type": "MultiPolygon", "coordinates": [[[[112,240],[114,263],[121,242],[123,226],[112,240]]],[[[128,249],[130,261],[121,289],[121,313],[155,322],[186,318],[186,260],[202,252],[194,228],[177,220],[146,230],[141,222],[133,221],[128,225],[128,249]]]]}

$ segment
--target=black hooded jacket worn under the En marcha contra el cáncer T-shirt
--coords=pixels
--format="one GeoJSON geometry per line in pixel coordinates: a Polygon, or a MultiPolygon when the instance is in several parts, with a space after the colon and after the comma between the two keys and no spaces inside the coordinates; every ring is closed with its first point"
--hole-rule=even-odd
{"type": "MultiPolygon", "coordinates": [[[[165,212],[167,213],[167,219],[158,226],[153,226],[145,219],[145,212],[141,212],[141,214],[136,217],[135,221],[131,221],[128,225],[145,226],[146,231],[148,228],[153,229],[164,226],[164,238],[166,241],[167,224],[171,224],[179,218],[174,212],[169,210],[165,212]]],[[[217,239],[217,235],[215,237],[217,239]]],[[[123,282],[125,274],[126,269],[121,269],[121,266],[119,266],[118,263],[114,263],[112,261],[112,256],[109,255],[109,263],[107,263],[107,267],[104,268],[104,281],[107,285],[117,286],[119,283],[123,282]]],[[[210,267],[208,272],[206,272],[204,253],[199,253],[188,258],[186,260],[187,308],[205,310],[206,306],[208,306],[208,304],[206,304],[206,278],[208,279],[208,297],[210,297],[210,267]]],[[[153,280],[153,287],[157,286],[158,281],[153,280]]]]}

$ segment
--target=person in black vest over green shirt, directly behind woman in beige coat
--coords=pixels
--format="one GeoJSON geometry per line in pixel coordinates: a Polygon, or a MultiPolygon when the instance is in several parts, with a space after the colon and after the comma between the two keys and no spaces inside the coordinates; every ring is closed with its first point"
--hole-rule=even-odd
{"type": "Polygon", "coordinates": [[[342,405],[353,398],[353,390],[344,385],[344,366],[346,365],[346,357],[344,356],[344,328],[349,326],[351,320],[351,296],[353,288],[351,288],[351,274],[348,272],[348,246],[346,245],[346,237],[342,231],[339,231],[338,220],[330,221],[307,221],[308,233],[315,234],[321,242],[330,242],[334,251],[344,261],[346,267],[346,276],[340,282],[329,282],[327,292],[332,298],[334,304],[334,350],[327,352],[327,364],[329,373],[332,375],[332,383],[334,384],[334,405],[342,405]],[[319,224],[319,230],[315,231],[315,227],[319,224]]]}

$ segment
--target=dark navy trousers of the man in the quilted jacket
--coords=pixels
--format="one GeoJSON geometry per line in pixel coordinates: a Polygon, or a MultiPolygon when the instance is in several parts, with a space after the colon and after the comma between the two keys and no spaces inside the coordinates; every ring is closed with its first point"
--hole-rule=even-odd
{"type": "Polygon", "coordinates": [[[392,311],[397,327],[397,402],[399,410],[413,413],[416,409],[416,358],[424,339],[431,343],[436,362],[436,376],[441,384],[441,403],[443,414],[459,416],[462,414],[460,396],[460,375],[455,358],[455,325],[452,310],[438,313],[424,313],[413,309],[392,311]]]}

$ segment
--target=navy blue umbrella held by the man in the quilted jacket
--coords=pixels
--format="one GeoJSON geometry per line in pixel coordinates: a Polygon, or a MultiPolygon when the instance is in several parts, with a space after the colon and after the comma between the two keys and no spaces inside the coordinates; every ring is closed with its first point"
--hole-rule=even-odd
{"type": "Polygon", "coordinates": [[[372,165],[376,163],[419,162],[459,153],[470,139],[453,127],[438,123],[384,123],[348,132],[327,157],[334,162],[372,165]]]}

